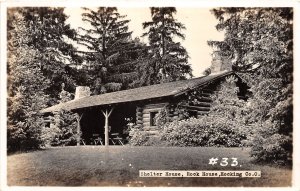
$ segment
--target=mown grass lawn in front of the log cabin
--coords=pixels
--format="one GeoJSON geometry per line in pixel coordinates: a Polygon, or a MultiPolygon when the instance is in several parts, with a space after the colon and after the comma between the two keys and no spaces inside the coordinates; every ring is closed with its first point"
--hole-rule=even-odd
{"type": "Polygon", "coordinates": [[[8,156],[9,186],[290,186],[292,170],[257,165],[249,150],[203,147],[61,147],[8,156]],[[241,166],[209,165],[236,157],[241,166]],[[260,170],[260,178],[144,178],[139,170],[260,170]]]}

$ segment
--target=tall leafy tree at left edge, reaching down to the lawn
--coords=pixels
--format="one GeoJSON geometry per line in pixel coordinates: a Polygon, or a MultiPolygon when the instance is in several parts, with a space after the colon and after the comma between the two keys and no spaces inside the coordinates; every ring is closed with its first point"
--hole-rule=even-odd
{"type": "Polygon", "coordinates": [[[34,28],[23,15],[14,13],[8,30],[8,129],[9,151],[38,148],[44,126],[39,110],[46,107],[50,86],[42,73],[41,52],[29,46],[34,28]]]}

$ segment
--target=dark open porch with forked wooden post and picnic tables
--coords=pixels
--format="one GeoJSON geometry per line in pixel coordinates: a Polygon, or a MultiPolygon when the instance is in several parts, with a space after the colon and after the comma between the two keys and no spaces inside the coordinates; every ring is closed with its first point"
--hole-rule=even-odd
{"type": "Polygon", "coordinates": [[[97,106],[76,111],[79,145],[124,145],[128,142],[128,124],[136,121],[132,104],[97,106]]]}

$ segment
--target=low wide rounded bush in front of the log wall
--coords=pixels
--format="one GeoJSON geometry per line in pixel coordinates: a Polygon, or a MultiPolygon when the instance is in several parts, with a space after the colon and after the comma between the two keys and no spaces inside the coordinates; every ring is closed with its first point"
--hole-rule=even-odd
{"type": "Polygon", "coordinates": [[[204,116],[166,124],[160,139],[171,146],[242,146],[246,135],[232,121],[204,116]]]}

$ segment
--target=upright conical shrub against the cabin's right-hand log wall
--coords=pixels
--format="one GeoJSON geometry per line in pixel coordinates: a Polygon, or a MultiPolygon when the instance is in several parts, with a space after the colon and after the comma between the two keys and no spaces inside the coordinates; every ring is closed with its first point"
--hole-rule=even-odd
{"type": "Polygon", "coordinates": [[[237,79],[227,77],[218,91],[212,96],[214,100],[208,116],[213,121],[215,135],[210,137],[209,142],[213,145],[241,146],[247,136],[250,135],[246,126],[244,115],[246,114],[245,101],[239,99],[239,88],[236,86],[237,79]]]}

